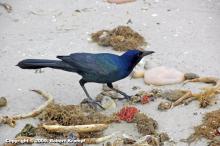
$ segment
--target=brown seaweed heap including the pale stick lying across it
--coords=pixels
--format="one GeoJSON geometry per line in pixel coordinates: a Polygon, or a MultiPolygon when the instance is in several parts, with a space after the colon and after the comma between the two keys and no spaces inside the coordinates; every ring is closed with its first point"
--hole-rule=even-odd
{"type": "Polygon", "coordinates": [[[55,103],[49,105],[38,118],[41,124],[37,135],[47,138],[63,138],[69,132],[78,133],[80,138],[102,137],[108,124],[119,121],[115,114],[107,116],[97,111],[87,111],[80,105],[55,103]]]}

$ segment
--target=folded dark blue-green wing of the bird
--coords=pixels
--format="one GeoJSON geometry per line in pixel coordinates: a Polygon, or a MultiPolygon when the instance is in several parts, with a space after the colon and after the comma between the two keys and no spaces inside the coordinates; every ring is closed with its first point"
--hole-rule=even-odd
{"type": "Polygon", "coordinates": [[[110,75],[120,69],[117,65],[118,57],[113,54],[74,53],[57,58],[76,68],[78,73],[110,75]]]}

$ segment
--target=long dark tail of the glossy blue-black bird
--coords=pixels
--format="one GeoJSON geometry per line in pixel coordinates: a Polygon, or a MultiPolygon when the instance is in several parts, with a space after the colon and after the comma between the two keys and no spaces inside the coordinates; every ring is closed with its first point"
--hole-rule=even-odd
{"type": "Polygon", "coordinates": [[[20,61],[17,66],[22,69],[40,69],[40,68],[55,68],[66,71],[74,71],[74,68],[61,60],[47,59],[25,59],[20,61]]]}

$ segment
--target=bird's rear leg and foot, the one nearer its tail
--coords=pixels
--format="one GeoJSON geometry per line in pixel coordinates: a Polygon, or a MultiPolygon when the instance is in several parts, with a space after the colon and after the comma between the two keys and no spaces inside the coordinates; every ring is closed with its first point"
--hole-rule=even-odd
{"type": "Polygon", "coordinates": [[[86,83],[86,81],[83,80],[83,79],[81,79],[81,80],[79,81],[80,86],[83,88],[83,91],[85,92],[85,94],[86,94],[86,96],[87,96],[87,99],[84,100],[83,102],[84,102],[84,103],[87,102],[88,104],[90,104],[91,106],[93,106],[93,107],[95,107],[95,108],[96,108],[96,106],[98,105],[101,109],[105,109],[105,108],[102,107],[101,104],[99,104],[97,101],[95,101],[94,99],[92,99],[92,98],[90,97],[89,93],[87,92],[87,90],[86,90],[86,88],[85,88],[85,86],[84,86],[85,83],[86,83]]]}

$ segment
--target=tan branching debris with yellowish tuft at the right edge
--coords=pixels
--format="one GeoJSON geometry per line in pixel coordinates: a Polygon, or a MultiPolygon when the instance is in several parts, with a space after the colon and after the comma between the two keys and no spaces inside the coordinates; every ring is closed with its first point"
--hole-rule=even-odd
{"type": "MultiPolygon", "coordinates": [[[[159,110],[167,110],[172,107],[185,104],[188,105],[194,100],[198,100],[200,107],[205,108],[210,105],[215,99],[214,97],[220,93],[220,79],[216,77],[196,77],[192,80],[186,80],[184,83],[189,82],[203,82],[212,83],[214,86],[203,87],[200,92],[192,93],[191,90],[168,90],[159,92],[153,96],[165,98],[171,102],[161,102],[158,105],[159,110]]],[[[215,102],[214,102],[215,103],[215,102]]]]}

